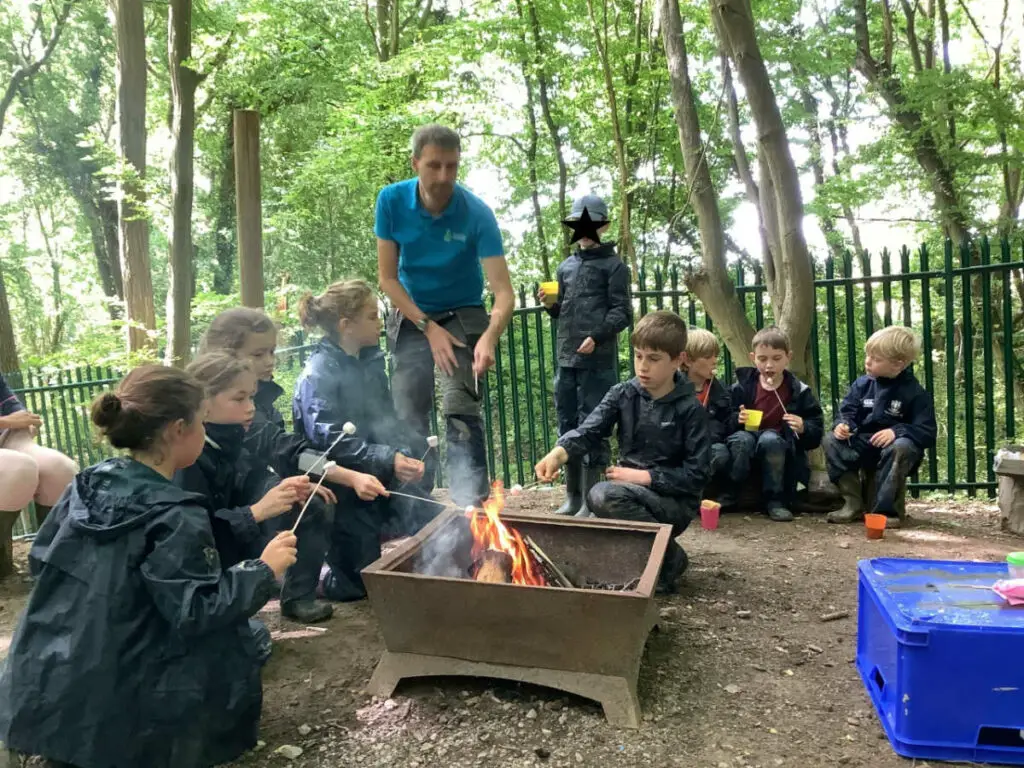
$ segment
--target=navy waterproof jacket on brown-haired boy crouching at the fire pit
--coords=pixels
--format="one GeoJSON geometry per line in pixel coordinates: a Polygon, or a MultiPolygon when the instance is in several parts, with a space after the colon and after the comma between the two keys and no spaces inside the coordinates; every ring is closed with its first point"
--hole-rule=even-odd
{"type": "Polygon", "coordinates": [[[676,374],[676,387],[652,399],[639,379],[616,384],[583,424],[558,439],[569,457],[592,453],[618,427],[618,465],[650,472],[655,494],[692,503],[711,474],[708,414],[693,385],[676,374]]]}

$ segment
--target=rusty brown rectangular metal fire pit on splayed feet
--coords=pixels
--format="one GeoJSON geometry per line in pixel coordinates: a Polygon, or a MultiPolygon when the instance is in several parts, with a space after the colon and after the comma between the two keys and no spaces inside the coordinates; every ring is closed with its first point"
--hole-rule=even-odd
{"type": "Polygon", "coordinates": [[[468,519],[447,510],[362,571],[386,650],[369,690],[390,696],[402,678],[464,675],[517,680],[592,698],[612,725],[638,728],[637,675],[657,624],[653,600],[669,525],[502,515],[537,542],[574,584],[624,592],[486,584],[432,573],[438,542],[446,572],[466,572],[468,519]]]}

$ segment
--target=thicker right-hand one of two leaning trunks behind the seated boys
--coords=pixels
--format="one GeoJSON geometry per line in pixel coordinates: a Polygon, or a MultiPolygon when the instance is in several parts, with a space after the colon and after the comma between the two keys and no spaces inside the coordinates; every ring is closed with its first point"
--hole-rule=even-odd
{"type": "MultiPolygon", "coordinates": [[[[807,376],[805,354],[814,317],[814,269],[804,240],[804,203],[800,177],[790,154],[785,125],[775,100],[768,70],[758,46],[750,0],[711,0],[712,16],[723,45],[739,73],[758,127],[758,157],[763,159],[761,202],[778,226],[778,253],[773,254],[775,322],[790,336],[795,372],[807,376]],[[765,179],[770,181],[770,188],[765,179]]],[[[770,230],[770,226],[769,226],[770,230]]],[[[766,270],[767,273],[767,270],[766,270]]]]}

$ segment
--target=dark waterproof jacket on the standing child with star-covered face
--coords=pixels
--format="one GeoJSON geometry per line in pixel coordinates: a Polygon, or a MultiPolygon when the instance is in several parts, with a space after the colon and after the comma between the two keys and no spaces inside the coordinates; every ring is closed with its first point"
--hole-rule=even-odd
{"type": "Polygon", "coordinates": [[[630,270],[614,243],[578,248],[558,265],[558,302],[548,313],[558,318],[556,345],[562,368],[604,369],[616,365],[616,338],[633,317],[630,270]],[[584,339],[594,351],[580,354],[584,339]]]}

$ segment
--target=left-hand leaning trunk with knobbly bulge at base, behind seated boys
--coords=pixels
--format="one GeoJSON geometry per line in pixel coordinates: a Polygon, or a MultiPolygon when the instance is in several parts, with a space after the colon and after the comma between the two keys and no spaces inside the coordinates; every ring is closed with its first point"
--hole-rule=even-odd
{"type": "Polygon", "coordinates": [[[683,37],[679,0],[662,0],[662,34],[672,84],[672,103],[683,151],[686,184],[700,229],[701,268],[687,279],[687,285],[700,298],[722,334],[734,359],[741,360],[751,349],[754,328],[736,297],[725,260],[725,231],[718,207],[718,196],[708,167],[707,146],[700,138],[700,123],[693,101],[683,37]]]}

